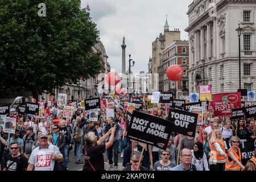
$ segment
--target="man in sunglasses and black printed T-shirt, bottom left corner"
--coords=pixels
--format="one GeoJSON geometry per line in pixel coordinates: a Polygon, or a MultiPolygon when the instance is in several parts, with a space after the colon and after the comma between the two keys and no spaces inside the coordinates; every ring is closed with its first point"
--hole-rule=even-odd
{"type": "Polygon", "coordinates": [[[19,152],[19,143],[16,141],[10,144],[11,154],[7,156],[3,171],[26,171],[27,158],[19,152]]]}

